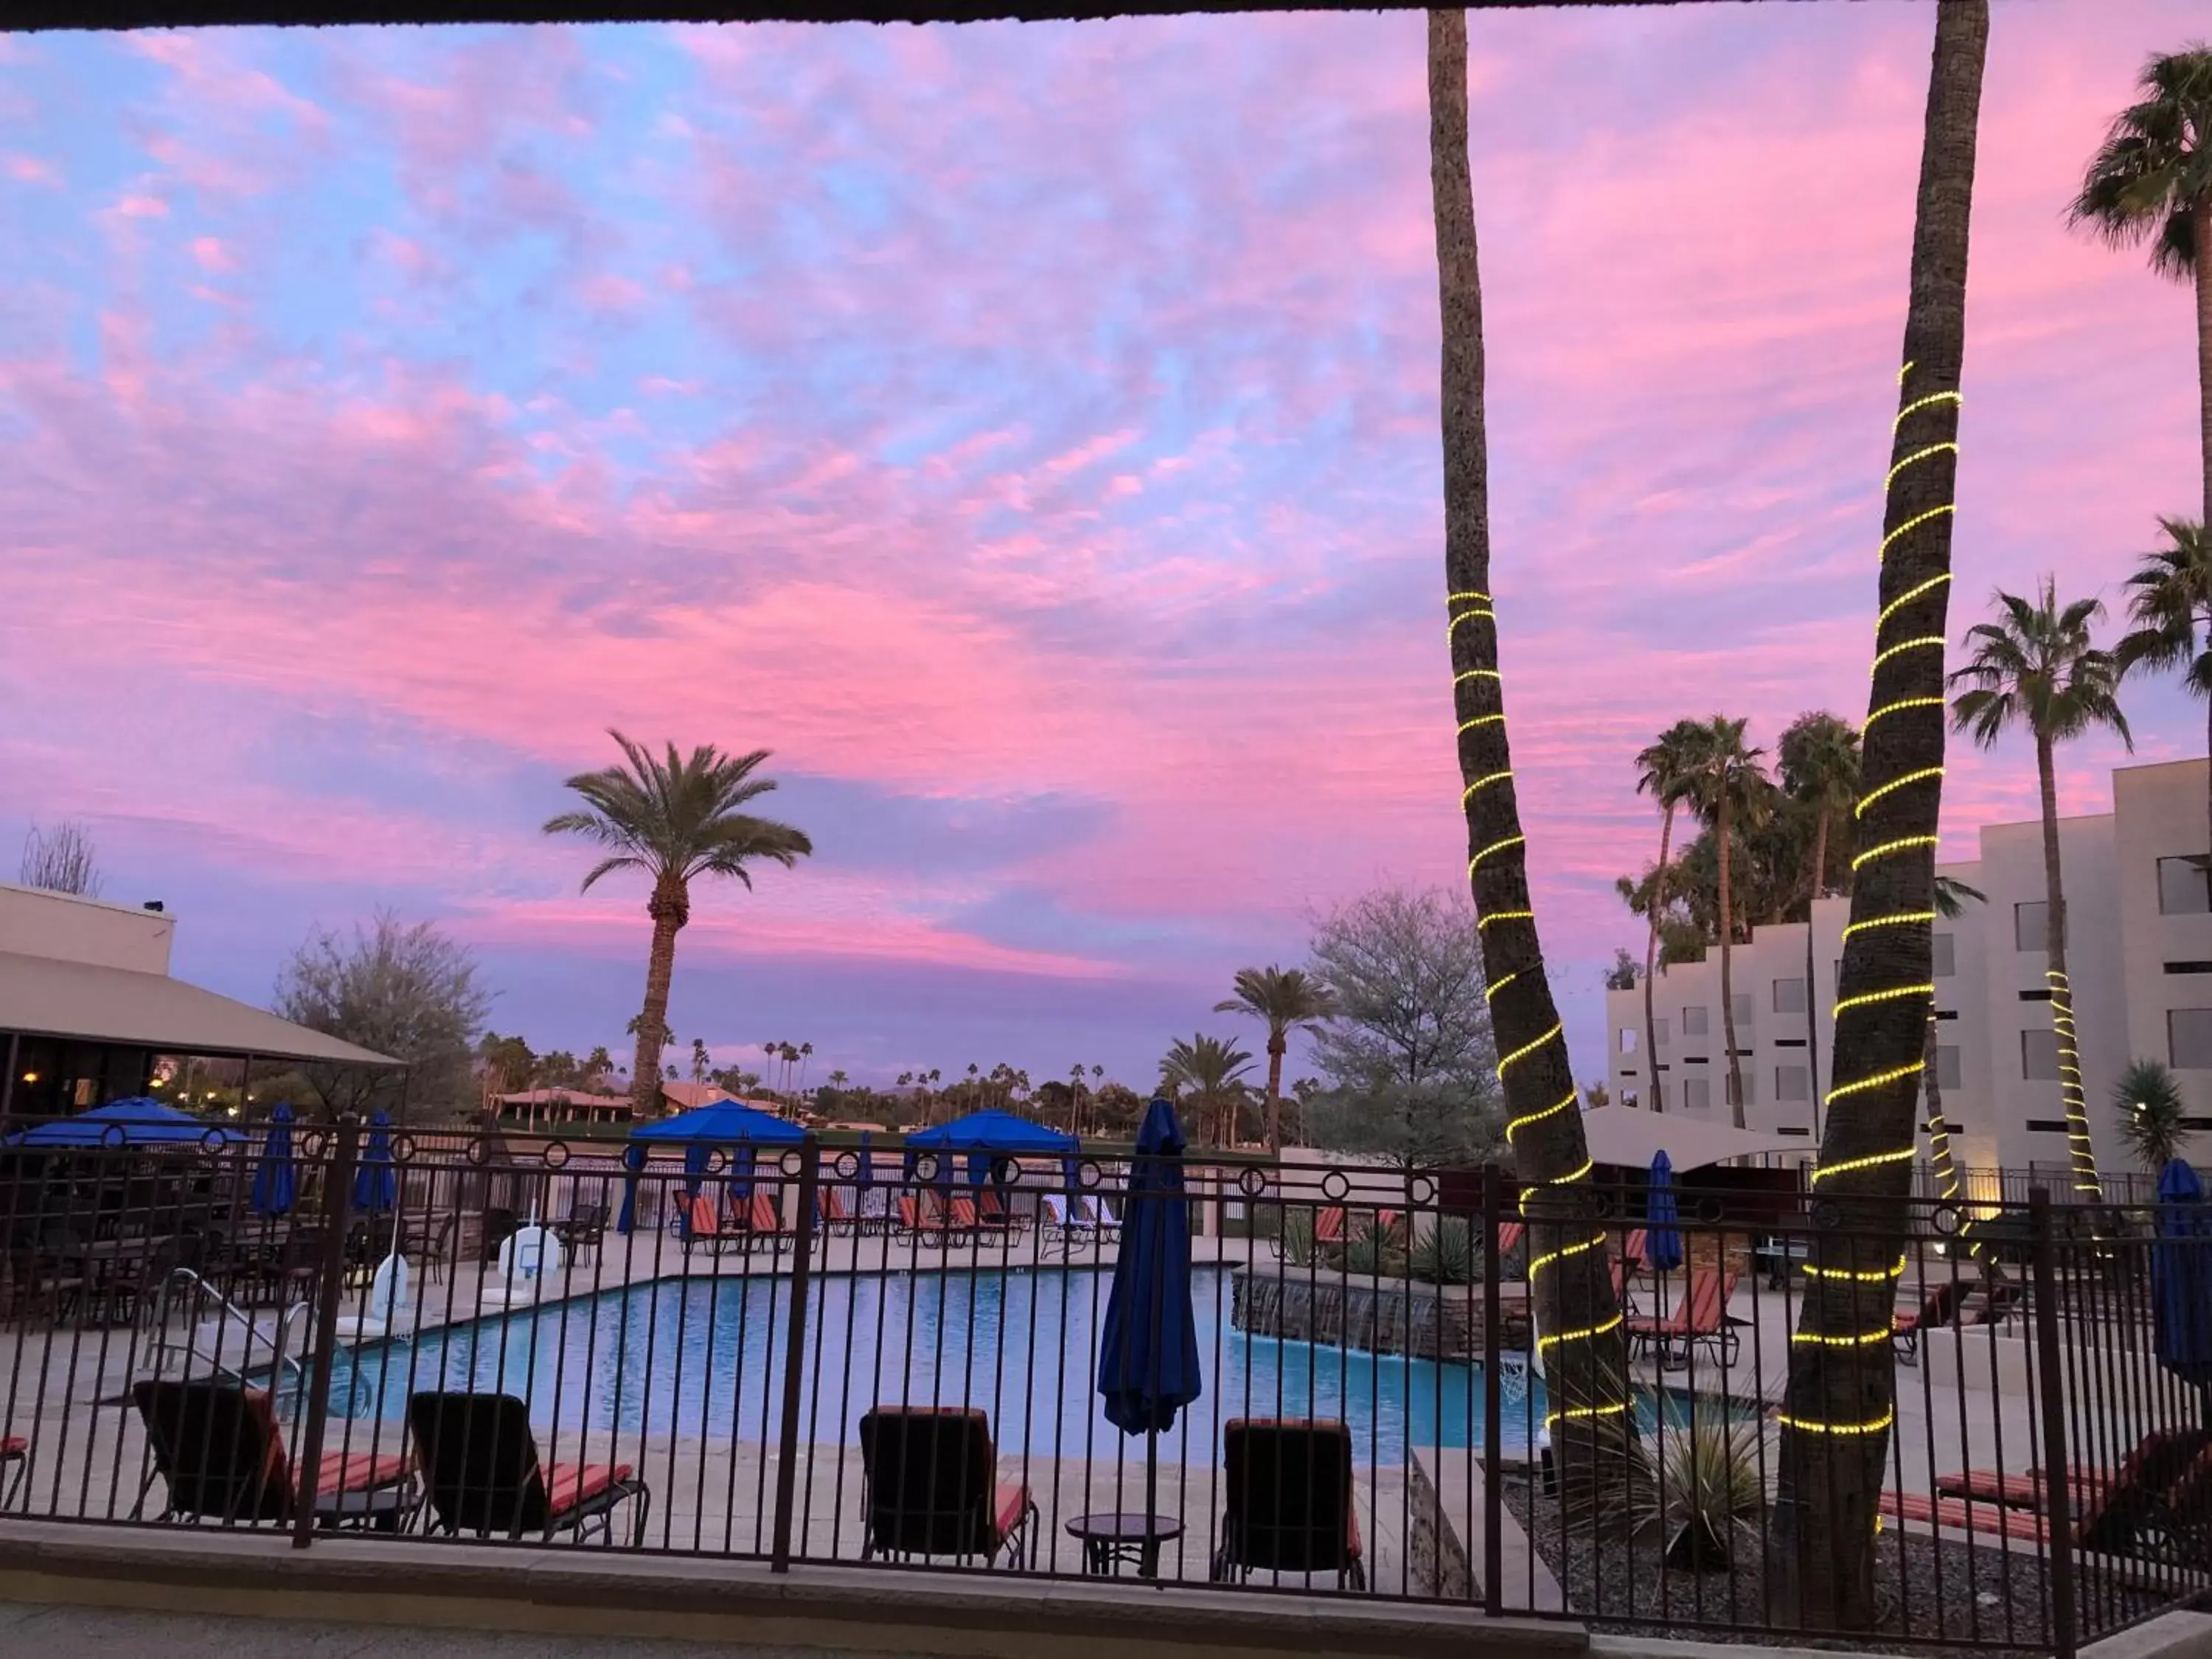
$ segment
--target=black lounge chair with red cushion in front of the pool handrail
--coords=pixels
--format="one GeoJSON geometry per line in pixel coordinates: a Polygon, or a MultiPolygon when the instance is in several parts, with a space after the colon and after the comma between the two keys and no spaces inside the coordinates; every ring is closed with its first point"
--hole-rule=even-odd
{"type": "MultiPolygon", "coordinates": [[[[153,1469],[131,1520],[146,1511],[155,1475],[168,1484],[159,1520],[290,1522],[301,1491],[265,1389],[237,1383],[135,1383],[153,1469]]],[[[403,1526],[416,1509],[414,1464],[403,1451],[332,1451],[316,1464],[314,1509],[325,1526],[378,1520],[403,1526]],[[378,1502],[380,1500],[380,1502],[378,1502]]]]}

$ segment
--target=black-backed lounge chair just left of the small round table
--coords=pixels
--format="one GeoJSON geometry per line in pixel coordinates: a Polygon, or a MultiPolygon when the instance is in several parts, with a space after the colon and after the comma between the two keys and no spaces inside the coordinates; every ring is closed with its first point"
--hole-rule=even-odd
{"type": "Polygon", "coordinates": [[[860,1416],[860,1559],[982,1557],[1037,1564],[1037,1504],[998,1478],[991,1418],[962,1407],[869,1407],[860,1416]],[[1029,1557],[1024,1562],[1024,1555],[1029,1557]]]}

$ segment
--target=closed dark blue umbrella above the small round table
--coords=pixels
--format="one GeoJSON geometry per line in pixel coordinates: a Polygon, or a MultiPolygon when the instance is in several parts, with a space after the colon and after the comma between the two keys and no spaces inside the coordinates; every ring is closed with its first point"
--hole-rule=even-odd
{"type": "Polygon", "coordinates": [[[1099,1332],[1106,1420],[1141,1433],[1144,1504],[1157,1509],[1159,1431],[1199,1398],[1199,1327],[1190,1307],[1190,1206],[1183,1199],[1183,1126],[1155,1099],[1137,1128],[1121,1212],[1121,1252],[1099,1332]]]}

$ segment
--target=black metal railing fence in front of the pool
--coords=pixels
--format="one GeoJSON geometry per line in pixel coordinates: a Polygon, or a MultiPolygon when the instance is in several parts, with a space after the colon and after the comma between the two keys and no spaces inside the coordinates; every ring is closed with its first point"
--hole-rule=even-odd
{"type": "Polygon", "coordinates": [[[259,1130],[0,1155],[0,1513],[2035,1652],[2212,1588],[2212,1418],[2154,1318],[2159,1252],[2212,1243],[2119,1210],[1913,1201],[1900,1239],[1595,1188],[1635,1436],[1582,1502],[1482,1172],[1186,1159],[1201,1389],[1126,1436],[1113,1265],[1164,1203],[1126,1161],[628,1166],[347,1124],[296,1135],[290,1194],[263,1164],[259,1130]],[[1891,1329],[1794,1343],[1809,1259],[1891,1329]],[[1803,1575],[1863,1553],[1781,1524],[1792,1354],[1896,1389],[1871,1566],[1825,1621],[1803,1575]]]}

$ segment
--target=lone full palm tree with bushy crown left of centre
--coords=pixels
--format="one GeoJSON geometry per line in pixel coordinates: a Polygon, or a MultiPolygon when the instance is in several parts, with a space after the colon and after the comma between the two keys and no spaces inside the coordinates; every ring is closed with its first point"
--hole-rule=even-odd
{"type": "Polygon", "coordinates": [[[668,757],[657,759],[622,732],[608,730],[608,737],[628,765],[568,779],[566,787],[584,796],[586,810],[549,818],[544,832],[584,836],[608,849],[584,876],[584,891],[617,869],[641,869],[653,880],[653,896],[646,900],[653,949],[646,956],[646,1002],[630,1071],[630,1102],[646,1117],[659,1106],[668,982],[675,975],[677,931],[690,920],[690,885],[701,876],[737,876],[752,887],[748,865],[772,858],[790,869],[814,852],[814,843],[787,823],[741,812],[776,787],[774,779],[754,776],[768,750],[732,757],[699,745],[681,757],[670,743],[668,757]]]}

